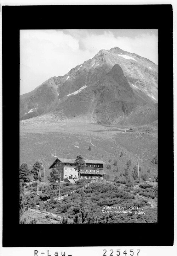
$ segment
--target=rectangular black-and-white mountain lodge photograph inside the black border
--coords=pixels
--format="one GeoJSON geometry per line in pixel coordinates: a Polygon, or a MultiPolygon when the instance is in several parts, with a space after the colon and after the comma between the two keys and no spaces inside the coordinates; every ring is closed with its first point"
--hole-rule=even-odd
{"type": "Polygon", "coordinates": [[[158,29],[20,30],[20,224],[158,222],[158,29]]]}

